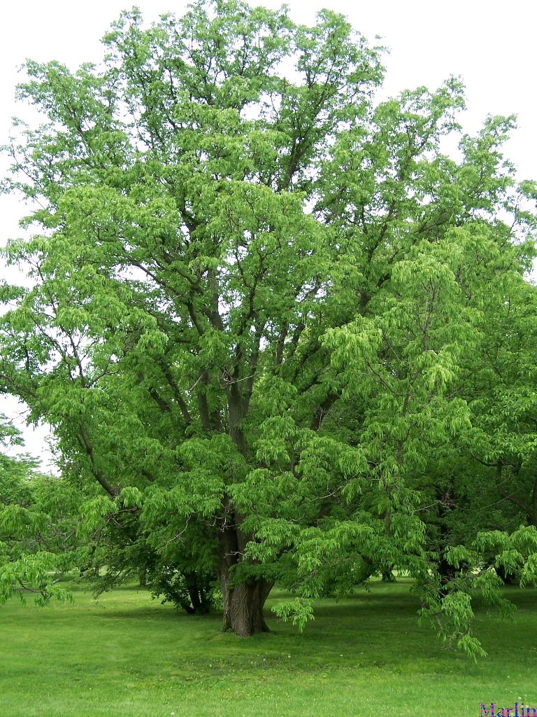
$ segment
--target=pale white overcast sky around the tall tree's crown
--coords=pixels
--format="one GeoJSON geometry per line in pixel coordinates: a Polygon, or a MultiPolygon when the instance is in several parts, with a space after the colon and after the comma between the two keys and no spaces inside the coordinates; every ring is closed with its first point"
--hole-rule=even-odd
{"type": "MultiPolygon", "coordinates": [[[[99,62],[100,37],[132,6],[129,0],[5,1],[0,10],[0,144],[7,141],[11,116],[24,110],[14,103],[26,57],[59,60],[75,69],[81,62],[99,62]]],[[[147,22],[164,12],[182,14],[186,3],[173,0],[139,0],[147,22]]],[[[251,0],[271,8],[276,0],[251,0]]],[[[449,75],[465,82],[468,112],[461,123],[475,132],[488,114],[518,115],[518,130],[506,155],[518,168],[519,179],[537,179],[537,3],[534,0],[289,0],[296,22],[312,24],[324,6],[349,17],[371,42],[375,35],[391,49],[386,57],[385,89],[393,95],[406,87],[438,87],[449,75]]],[[[0,161],[4,171],[5,161],[0,161]]],[[[19,234],[17,220],[24,205],[0,196],[0,245],[19,234]]],[[[20,281],[20,277],[12,276],[20,281]]],[[[16,414],[12,404],[0,410],[16,414]]],[[[26,450],[42,453],[44,431],[25,432],[26,450]]]]}

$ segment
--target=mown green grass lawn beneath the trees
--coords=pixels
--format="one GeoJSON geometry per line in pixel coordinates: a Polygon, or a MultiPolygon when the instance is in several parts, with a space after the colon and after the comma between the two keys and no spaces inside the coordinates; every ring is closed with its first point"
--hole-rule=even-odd
{"type": "Polygon", "coordinates": [[[10,602],[0,717],[478,717],[481,702],[537,706],[536,593],[508,593],[516,621],[479,615],[488,657],[477,664],[417,624],[405,579],[322,602],[303,635],[271,616],[272,632],[248,640],[135,589],[10,602]]]}

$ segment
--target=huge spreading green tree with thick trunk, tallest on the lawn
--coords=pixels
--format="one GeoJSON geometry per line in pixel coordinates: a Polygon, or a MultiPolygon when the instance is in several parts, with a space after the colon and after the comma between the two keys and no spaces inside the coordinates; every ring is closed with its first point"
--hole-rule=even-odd
{"type": "Polygon", "coordinates": [[[311,598],[397,566],[475,649],[421,511],[475,426],[483,324],[534,255],[513,118],[442,155],[461,82],[375,107],[382,48],[332,11],[199,1],[104,42],[99,67],[26,64],[45,121],[6,188],[42,233],[7,249],[34,287],[2,289],[4,391],[100,485],[87,529],[134,520],[216,571],[239,635],[267,629],[275,581],[311,598]]]}

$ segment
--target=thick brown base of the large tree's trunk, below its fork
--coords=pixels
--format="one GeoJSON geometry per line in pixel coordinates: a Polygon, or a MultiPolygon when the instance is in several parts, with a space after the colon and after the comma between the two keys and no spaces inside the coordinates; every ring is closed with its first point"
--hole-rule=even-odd
{"type": "Polygon", "coordinates": [[[233,587],[224,585],[222,630],[235,632],[241,637],[250,637],[255,632],[270,632],[263,615],[263,605],[271,588],[272,584],[266,580],[238,583],[233,587]]]}

